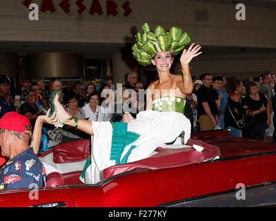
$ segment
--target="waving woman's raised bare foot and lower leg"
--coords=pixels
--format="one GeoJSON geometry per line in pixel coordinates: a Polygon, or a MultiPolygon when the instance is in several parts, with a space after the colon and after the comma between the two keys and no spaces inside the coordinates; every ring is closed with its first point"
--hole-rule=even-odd
{"type": "MultiPolygon", "coordinates": [[[[74,126],[75,120],[71,119],[70,121],[66,122],[72,115],[70,115],[61,105],[59,102],[59,97],[58,95],[55,96],[54,98],[54,106],[55,106],[55,111],[57,112],[57,117],[59,119],[59,122],[62,124],[67,124],[70,126],[74,126]]],[[[79,119],[77,129],[79,131],[83,131],[84,133],[88,133],[89,135],[93,135],[93,130],[92,130],[92,122],[85,120],[85,119],[79,119]]]]}

